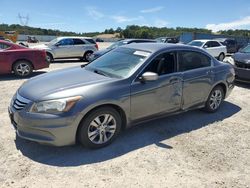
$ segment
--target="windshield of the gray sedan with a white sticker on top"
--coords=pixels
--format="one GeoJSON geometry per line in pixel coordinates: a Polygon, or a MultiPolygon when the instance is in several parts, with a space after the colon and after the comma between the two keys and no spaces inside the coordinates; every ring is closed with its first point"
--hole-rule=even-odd
{"type": "Polygon", "coordinates": [[[149,55],[146,51],[119,48],[94,60],[86,69],[109,77],[127,78],[149,55]]]}

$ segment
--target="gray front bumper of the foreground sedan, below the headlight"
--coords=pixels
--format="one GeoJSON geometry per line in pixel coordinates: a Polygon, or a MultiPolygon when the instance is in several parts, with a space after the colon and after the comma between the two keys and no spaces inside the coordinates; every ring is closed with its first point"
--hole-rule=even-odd
{"type": "Polygon", "coordinates": [[[9,117],[19,137],[42,144],[65,146],[75,143],[77,117],[29,113],[8,108],[9,117]]]}

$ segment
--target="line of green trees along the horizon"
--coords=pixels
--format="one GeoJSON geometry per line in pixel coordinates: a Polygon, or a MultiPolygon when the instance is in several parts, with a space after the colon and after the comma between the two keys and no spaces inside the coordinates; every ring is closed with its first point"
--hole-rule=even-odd
{"type": "MultiPolygon", "coordinates": [[[[0,31],[17,31],[19,34],[26,35],[53,35],[53,36],[89,36],[94,37],[99,34],[115,34],[118,33],[120,38],[157,38],[163,36],[177,37],[183,32],[195,32],[212,34],[211,30],[202,28],[157,28],[148,26],[129,25],[125,29],[118,27],[117,29],[105,29],[103,32],[88,32],[88,33],[76,33],[68,31],[60,31],[54,29],[43,29],[30,26],[21,26],[19,24],[0,24],[0,31]]],[[[244,36],[250,37],[250,30],[225,30],[219,31],[218,34],[228,36],[244,36]]]]}

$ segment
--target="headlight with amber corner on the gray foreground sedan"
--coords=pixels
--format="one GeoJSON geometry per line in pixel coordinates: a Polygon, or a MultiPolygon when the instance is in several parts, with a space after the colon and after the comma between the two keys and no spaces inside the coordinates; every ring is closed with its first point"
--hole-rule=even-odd
{"type": "Polygon", "coordinates": [[[57,114],[69,111],[82,97],[69,97],[63,99],[42,101],[34,103],[30,109],[32,113],[57,114]]]}

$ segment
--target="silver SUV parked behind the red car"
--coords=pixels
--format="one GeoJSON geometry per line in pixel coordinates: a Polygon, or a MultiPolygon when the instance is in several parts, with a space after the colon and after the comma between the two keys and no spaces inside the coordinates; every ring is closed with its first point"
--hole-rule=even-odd
{"type": "Polygon", "coordinates": [[[45,49],[47,59],[79,58],[89,61],[90,55],[98,50],[98,45],[90,37],[58,37],[48,44],[33,46],[32,48],[45,49]]]}

